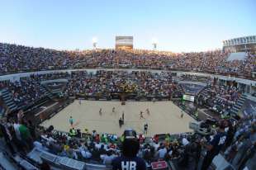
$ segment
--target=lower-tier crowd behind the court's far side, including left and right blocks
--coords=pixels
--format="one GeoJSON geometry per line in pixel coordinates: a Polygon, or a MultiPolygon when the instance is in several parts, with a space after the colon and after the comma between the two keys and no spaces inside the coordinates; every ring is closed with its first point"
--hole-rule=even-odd
{"type": "Polygon", "coordinates": [[[182,76],[174,79],[169,72],[148,71],[106,71],[98,70],[96,73],[87,71],[73,71],[71,73],[32,74],[21,78],[20,81],[2,81],[1,88],[6,88],[12,95],[17,109],[39,102],[47,96],[50,87],[58,87],[64,97],[92,97],[95,100],[119,99],[125,94],[130,100],[170,100],[181,98],[186,92],[195,93],[198,106],[206,106],[220,115],[229,115],[230,109],[238,101],[242,92],[235,86],[214,85],[211,78],[195,76],[182,76]],[[58,82],[59,79],[67,82],[58,82]],[[45,83],[47,80],[56,82],[45,83]],[[182,82],[202,82],[206,87],[196,86],[182,82]],[[59,83],[59,84],[58,84],[59,83]],[[58,84],[58,86],[57,86],[58,84]],[[63,86],[63,87],[62,87],[63,86]],[[46,90],[48,89],[48,90],[46,90]]]}

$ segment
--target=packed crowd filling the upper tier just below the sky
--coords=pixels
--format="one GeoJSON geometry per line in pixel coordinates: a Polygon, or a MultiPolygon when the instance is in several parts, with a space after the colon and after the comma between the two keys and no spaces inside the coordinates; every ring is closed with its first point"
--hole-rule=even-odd
{"type": "Polygon", "coordinates": [[[150,50],[59,51],[0,43],[0,74],[65,68],[158,68],[251,78],[256,58],[228,61],[220,50],[174,54],[150,50]]]}

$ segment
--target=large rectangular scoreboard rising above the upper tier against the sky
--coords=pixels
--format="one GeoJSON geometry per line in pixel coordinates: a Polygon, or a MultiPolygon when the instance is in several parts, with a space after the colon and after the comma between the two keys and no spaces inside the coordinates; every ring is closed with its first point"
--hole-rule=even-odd
{"type": "Polygon", "coordinates": [[[116,36],[116,50],[132,50],[133,36],[116,36]]]}

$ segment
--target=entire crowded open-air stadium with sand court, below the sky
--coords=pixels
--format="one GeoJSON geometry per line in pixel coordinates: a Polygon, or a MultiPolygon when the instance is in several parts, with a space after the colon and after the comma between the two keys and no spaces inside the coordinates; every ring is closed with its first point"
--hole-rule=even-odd
{"type": "Polygon", "coordinates": [[[0,39],[0,169],[256,168],[256,35],[198,52],[112,39],[0,39]]]}

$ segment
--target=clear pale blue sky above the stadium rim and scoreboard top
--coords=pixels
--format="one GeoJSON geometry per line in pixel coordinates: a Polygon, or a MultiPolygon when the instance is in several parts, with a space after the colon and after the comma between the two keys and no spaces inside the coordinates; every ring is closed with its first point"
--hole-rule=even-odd
{"type": "Polygon", "coordinates": [[[0,42],[56,50],[115,47],[216,50],[222,40],[256,35],[255,0],[0,0],[0,42]]]}

